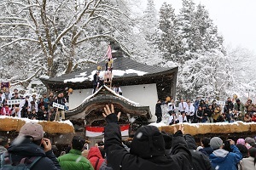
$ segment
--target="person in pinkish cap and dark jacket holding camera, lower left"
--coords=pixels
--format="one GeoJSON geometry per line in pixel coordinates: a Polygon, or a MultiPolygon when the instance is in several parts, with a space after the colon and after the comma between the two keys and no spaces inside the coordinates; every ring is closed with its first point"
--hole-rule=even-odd
{"type": "MultiPolygon", "coordinates": [[[[44,130],[37,122],[26,122],[20,128],[19,136],[9,146],[8,155],[14,164],[19,164],[21,159],[32,157],[40,157],[31,169],[35,170],[55,170],[61,169],[53,151],[49,139],[44,139],[44,130]],[[44,145],[44,149],[40,147],[44,145]]],[[[7,155],[6,152],[4,152],[7,155]]],[[[2,166],[2,165],[1,165],[2,166]]]]}

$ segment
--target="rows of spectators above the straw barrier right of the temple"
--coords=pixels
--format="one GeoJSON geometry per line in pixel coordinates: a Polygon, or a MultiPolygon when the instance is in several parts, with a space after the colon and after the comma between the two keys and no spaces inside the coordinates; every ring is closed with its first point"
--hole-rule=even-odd
{"type": "Polygon", "coordinates": [[[171,97],[166,97],[166,101],[158,100],[155,105],[156,122],[165,122],[172,125],[178,122],[256,122],[256,105],[252,99],[247,99],[242,103],[240,99],[225,101],[224,105],[218,105],[217,100],[210,102],[208,99],[180,99],[175,102],[171,97]]]}

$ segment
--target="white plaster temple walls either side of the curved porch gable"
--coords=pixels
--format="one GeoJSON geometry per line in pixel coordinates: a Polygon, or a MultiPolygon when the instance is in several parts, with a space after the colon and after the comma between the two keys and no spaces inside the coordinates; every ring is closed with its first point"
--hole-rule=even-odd
{"type": "MultiPolygon", "coordinates": [[[[149,122],[155,122],[156,116],[154,116],[155,104],[157,102],[157,90],[156,84],[143,84],[134,86],[120,87],[123,92],[123,96],[131,101],[138,103],[139,105],[149,106],[152,114],[152,119],[149,122]]],[[[69,96],[69,109],[74,109],[79,106],[82,101],[92,94],[92,88],[73,90],[73,94],[69,96]]]]}

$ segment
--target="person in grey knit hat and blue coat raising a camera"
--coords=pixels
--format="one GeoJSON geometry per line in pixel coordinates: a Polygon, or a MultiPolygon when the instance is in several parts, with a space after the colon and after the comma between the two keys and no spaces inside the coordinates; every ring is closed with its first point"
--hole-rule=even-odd
{"type": "Polygon", "coordinates": [[[213,169],[237,169],[236,166],[241,161],[242,155],[240,150],[236,147],[234,140],[229,139],[225,142],[224,145],[222,139],[213,137],[210,140],[210,146],[214,150],[209,156],[213,169]]]}

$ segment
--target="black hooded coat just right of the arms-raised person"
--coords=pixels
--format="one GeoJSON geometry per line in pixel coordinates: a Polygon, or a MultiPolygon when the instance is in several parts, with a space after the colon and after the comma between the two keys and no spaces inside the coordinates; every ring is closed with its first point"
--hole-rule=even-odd
{"type": "Polygon", "coordinates": [[[196,170],[211,170],[212,164],[208,156],[201,151],[196,151],[197,145],[195,144],[195,139],[190,134],[184,135],[184,138],[186,139],[189,151],[192,155],[193,168],[196,170]]]}

